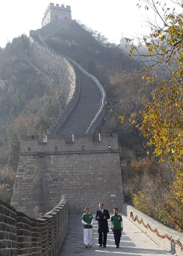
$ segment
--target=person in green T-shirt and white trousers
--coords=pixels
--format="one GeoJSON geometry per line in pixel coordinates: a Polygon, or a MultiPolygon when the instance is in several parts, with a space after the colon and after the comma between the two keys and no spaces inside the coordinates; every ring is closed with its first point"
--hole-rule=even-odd
{"type": "Polygon", "coordinates": [[[84,246],[85,248],[92,247],[92,233],[93,227],[92,224],[94,223],[93,216],[89,213],[89,208],[86,207],[84,209],[84,214],[82,216],[82,224],[84,225],[83,236],[84,236],[84,246]]]}

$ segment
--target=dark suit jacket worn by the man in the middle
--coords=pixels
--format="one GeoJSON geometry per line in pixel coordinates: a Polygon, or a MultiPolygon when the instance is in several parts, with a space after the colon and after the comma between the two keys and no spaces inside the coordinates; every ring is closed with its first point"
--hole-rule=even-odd
{"type": "Polygon", "coordinates": [[[103,215],[100,209],[96,211],[95,220],[98,221],[98,233],[109,231],[108,222],[107,222],[108,219],[110,219],[108,210],[103,209],[103,215]],[[104,215],[106,219],[104,219],[104,215]],[[99,220],[97,219],[98,216],[100,217],[99,220]]]}

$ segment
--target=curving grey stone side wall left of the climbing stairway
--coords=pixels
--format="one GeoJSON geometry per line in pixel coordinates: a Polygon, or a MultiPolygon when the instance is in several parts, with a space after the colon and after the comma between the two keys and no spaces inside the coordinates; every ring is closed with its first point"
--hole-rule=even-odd
{"type": "Polygon", "coordinates": [[[30,42],[32,48],[29,60],[32,65],[47,73],[50,79],[56,79],[60,86],[59,93],[62,95],[60,102],[62,113],[59,114],[59,117],[57,117],[50,129],[48,129],[49,135],[56,134],[58,128],[60,125],[63,125],[77,102],[79,96],[78,77],[76,77],[75,69],[71,62],[62,54],[55,52],[49,47],[39,45],[31,36],[30,42]]]}

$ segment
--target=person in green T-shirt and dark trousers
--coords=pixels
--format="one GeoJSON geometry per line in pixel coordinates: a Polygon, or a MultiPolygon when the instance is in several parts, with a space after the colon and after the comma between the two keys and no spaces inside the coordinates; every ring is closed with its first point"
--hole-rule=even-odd
{"type": "Polygon", "coordinates": [[[120,246],[121,232],[123,231],[123,220],[118,214],[118,208],[113,208],[114,215],[111,217],[111,229],[115,237],[116,248],[120,246]]]}

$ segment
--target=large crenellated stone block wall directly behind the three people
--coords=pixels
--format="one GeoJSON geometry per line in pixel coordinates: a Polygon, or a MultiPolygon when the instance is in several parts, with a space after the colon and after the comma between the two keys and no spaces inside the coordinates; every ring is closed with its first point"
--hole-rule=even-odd
{"type": "Polygon", "coordinates": [[[104,202],[112,211],[121,209],[122,179],[117,135],[22,137],[21,153],[11,205],[32,216],[33,208],[51,209],[61,195],[68,195],[70,214],[81,214],[84,207],[91,211],[104,202]]]}

